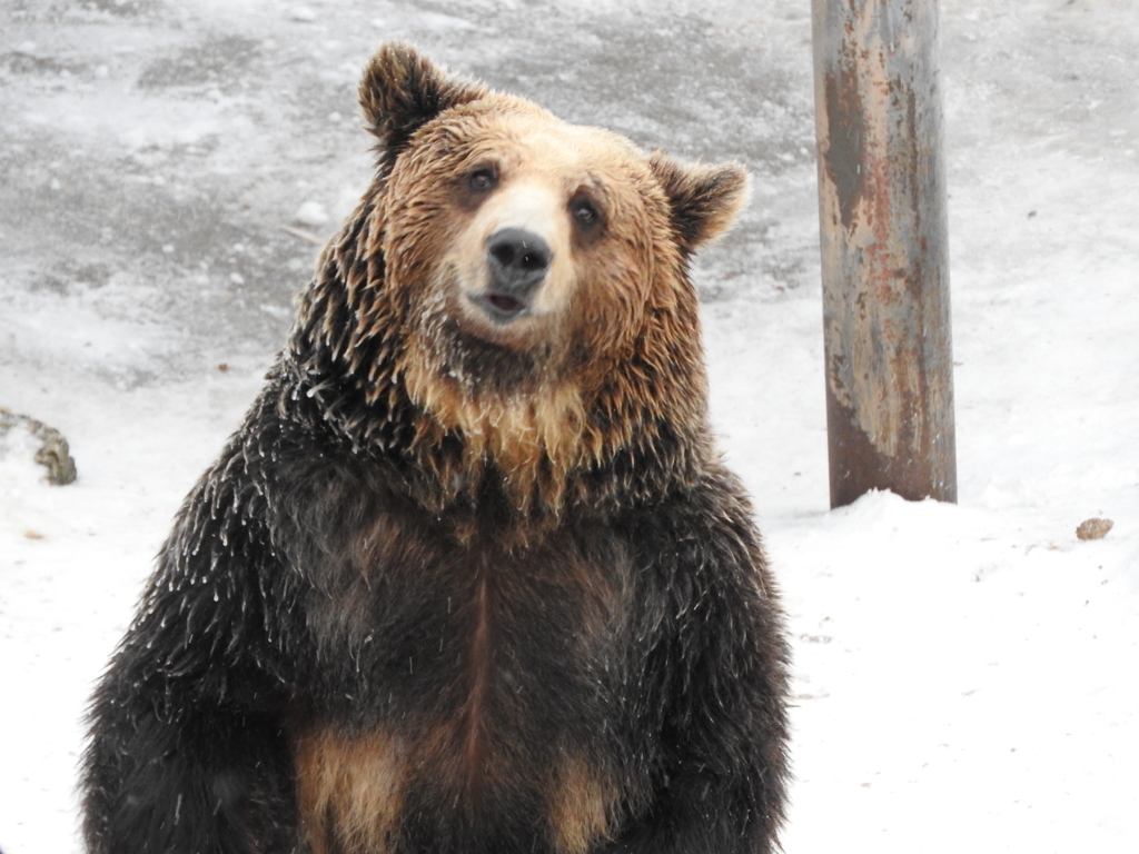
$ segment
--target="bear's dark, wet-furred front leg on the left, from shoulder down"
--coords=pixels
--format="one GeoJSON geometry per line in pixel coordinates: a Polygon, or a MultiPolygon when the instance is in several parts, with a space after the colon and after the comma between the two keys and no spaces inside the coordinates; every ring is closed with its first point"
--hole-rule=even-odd
{"type": "Polygon", "coordinates": [[[282,731],[294,574],[267,545],[262,504],[249,498],[259,493],[218,475],[235,447],[182,507],[92,699],[82,771],[90,854],[296,848],[282,731]]]}

